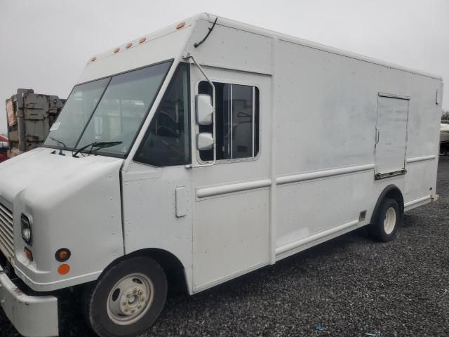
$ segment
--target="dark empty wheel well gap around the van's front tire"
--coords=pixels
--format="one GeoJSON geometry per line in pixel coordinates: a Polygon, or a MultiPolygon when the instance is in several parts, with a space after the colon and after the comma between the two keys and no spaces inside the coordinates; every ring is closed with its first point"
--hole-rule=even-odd
{"type": "Polygon", "coordinates": [[[133,256],[147,256],[156,260],[166,273],[168,291],[170,293],[187,293],[187,280],[185,277],[184,265],[181,261],[168,251],[163,249],[142,249],[128,254],[125,258],[133,256]]]}

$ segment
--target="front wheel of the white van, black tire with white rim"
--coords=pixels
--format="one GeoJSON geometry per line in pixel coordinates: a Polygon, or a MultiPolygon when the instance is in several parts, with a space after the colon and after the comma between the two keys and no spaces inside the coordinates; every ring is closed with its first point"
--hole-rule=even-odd
{"type": "Polygon", "coordinates": [[[98,336],[135,336],[156,321],[166,296],[166,275],[159,263],[129,258],[109,268],[86,291],[83,312],[98,336]]]}

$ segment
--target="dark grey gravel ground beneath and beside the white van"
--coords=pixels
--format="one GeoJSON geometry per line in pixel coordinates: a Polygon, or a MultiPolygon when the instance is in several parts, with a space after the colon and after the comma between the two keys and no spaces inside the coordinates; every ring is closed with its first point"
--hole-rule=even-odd
{"type": "MultiPolygon", "coordinates": [[[[142,336],[449,336],[449,157],[437,203],[395,242],[346,234],[203,291],[171,296],[142,336]],[[371,335],[370,335],[371,334],[371,335]]],[[[64,336],[93,336],[78,314],[64,336]]],[[[18,336],[0,310],[0,336],[18,336]]]]}

